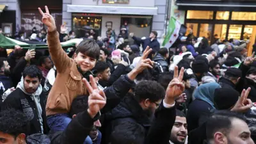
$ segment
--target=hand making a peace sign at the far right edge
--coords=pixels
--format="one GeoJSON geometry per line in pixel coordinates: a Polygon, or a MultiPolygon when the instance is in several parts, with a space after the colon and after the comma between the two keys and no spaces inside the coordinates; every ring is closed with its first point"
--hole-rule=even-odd
{"type": "Polygon", "coordinates": [[[244,113],[248,111],[250,108],[252,108],[252,100],[247,99],[249,93],[251,91],[251,88],[247,88],[247,90],[243,90],[241,93],[241,97],[236,102],[236,105],[231,109],[231,111],[236,111],[239,113],[244,113]]]}

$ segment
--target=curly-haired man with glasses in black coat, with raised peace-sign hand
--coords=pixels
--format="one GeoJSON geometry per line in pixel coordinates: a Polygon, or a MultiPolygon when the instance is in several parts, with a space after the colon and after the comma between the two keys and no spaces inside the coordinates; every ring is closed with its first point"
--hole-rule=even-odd
{"type": "Polygon", "coordinates": [[[109,143],[111,141],[109,134],[115,131],[115,127],[121,125],[122,122],[134,122],[145,129],[147,134],[145,143],[168,143],[170,129],[175,121],[175,108],[172,108],[175,105],[175,97],[184,92],[183,73],[184,68],[178,78],[178,68],[175,67],[174,79],[168,85],[166,94],[164,88],[154,81],[138,83],[134,97],[125,97],[116,108],[106,113],[104,122],[108,122],[108,125],[102,131],[105,134],[105,136],[102,134],[104,136],[102,141],[109,143]],[[154,113],[155,120],[152,122],[154,113]]]}

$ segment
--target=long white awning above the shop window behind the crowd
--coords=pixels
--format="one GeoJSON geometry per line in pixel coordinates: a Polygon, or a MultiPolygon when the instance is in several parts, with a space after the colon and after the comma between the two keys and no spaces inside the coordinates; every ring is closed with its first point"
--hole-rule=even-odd
{"type": "Polygon", "coordinates": [[[124,15],[157,15],[156,7],[67,5],[67,12],[124,15]]]}

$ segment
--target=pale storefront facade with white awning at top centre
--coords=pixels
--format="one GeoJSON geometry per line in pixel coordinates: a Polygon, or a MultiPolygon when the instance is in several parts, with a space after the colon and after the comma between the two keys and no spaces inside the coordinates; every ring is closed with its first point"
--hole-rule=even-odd
{"type": "Polygon", "coordinates": [[[166,0],[63,0],[63,23],[69,30],[92,28],[102,36],[111,28],[116,35],[127,23],[129,32],[148,36],[151,30],[164,33],[166,0]],[[161,8],[161,9],[159,9],[161,8]]]}

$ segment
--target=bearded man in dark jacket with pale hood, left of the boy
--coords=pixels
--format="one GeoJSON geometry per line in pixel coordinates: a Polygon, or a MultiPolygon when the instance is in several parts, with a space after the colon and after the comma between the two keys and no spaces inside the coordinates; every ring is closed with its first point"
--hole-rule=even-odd
{"type": "Polygon", "coordinates": [[[42,93],[41,79],[42,72],[38,67],[26,67],[16,90],[8,95],[1,106],[1,110],[15,109],[27,116],[30,126],[28,134],[48,132],[45,115],[46,97],[42,93]]]}

